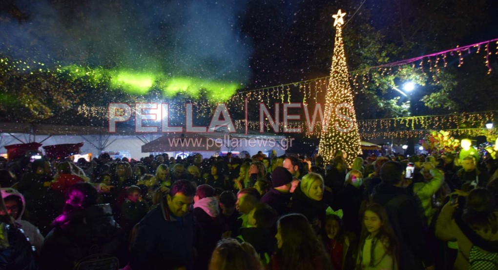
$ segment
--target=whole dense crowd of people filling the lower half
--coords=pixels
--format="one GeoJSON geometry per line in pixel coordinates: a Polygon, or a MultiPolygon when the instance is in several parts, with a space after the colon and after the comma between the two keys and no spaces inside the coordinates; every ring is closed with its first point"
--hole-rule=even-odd
{"type": "Polygon", "coordinates": [[[498,269],[489,157],[104,153],[0,185],[0,269],[498,269]]]}

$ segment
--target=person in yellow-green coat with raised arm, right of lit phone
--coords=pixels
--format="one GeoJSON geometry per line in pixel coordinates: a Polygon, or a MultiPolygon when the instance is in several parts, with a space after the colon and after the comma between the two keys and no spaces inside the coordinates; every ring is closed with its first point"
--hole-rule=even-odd
{"type": "Polygon", "coordinates": [[[422,164],[420,173],[424,180],[413,184],[413,193],[420,199],[427,225],[429,225],[432,216],[436,212],[436,209],[432,207],[432,198],[439,188],[441,188],[444,181],[444,174],[430,162],[422,164]]]}

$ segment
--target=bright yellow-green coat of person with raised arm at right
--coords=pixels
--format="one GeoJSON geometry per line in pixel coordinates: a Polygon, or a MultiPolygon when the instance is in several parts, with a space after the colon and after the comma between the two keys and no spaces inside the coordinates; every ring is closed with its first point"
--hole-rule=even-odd
{"type": "Polygon", "coordinates": [[[434,168],[430,173],[432,175],[430,181],[413,183],[413,193],[420,199],[428,223],[436,211],[432,208],[432,196],[441,188],[444,181],[444,175],[438,169],[434,168]]]}

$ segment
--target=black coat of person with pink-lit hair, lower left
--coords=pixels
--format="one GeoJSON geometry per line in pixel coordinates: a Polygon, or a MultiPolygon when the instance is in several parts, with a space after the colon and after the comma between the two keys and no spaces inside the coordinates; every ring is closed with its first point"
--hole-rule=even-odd
{"type": "Polygon", "coordinates": [[[109,204],[84,209],[65,226],[57,226],[45,238],[40,254],[41,269],[73,269],[75,264],[98,253],[117,257],[120,265],[127,263],[127,238],[113,218],[109,204]]]}

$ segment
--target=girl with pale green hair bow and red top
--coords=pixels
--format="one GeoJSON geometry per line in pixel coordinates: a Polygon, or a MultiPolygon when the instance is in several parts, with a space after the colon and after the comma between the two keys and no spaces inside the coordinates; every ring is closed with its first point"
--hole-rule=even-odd
{"type": "Polygon", "coordinates": [[[323,242],[334,269],[353,269],[351,245],[349,237],[343,231],[341,218],[336,214],[328,214],[324,229],[323,242]]]}

